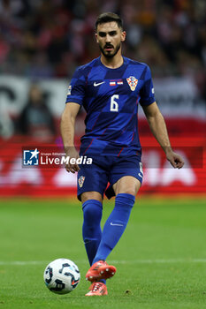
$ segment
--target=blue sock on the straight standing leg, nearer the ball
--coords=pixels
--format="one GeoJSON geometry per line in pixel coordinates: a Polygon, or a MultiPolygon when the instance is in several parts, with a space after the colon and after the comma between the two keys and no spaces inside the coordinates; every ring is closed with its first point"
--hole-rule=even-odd
{"type": "Polygon", "coordinates": [[[102,238],[100,222],[103,215],[103,205],[98,200],[87,200],[82,204],[82,209],[84,215],[82,236],[89,264],[92,265],[102,238]]]}

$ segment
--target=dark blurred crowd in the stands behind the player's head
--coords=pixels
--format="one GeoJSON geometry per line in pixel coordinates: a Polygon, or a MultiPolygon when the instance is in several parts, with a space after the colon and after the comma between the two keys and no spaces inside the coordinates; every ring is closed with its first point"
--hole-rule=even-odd
{"type": "Polygon", "coordinates": [[[2,0],[0,73],[71,78],[99,56],[96,17],[117,12],[127,32],[126,57],[154,77],[195,75],[205,97],[205,0],[2,0]]]}

